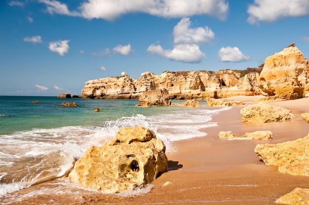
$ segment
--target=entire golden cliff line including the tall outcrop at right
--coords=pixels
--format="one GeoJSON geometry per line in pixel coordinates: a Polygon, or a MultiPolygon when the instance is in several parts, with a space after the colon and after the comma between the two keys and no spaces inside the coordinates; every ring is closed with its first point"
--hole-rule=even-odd
{"type": "Polygon", "coordinates": [[[81,91],[87,99],[138,99],[145,91],[166,89],[170,99],[226,98],[237,95],[283,96],[285,100],[304,97],[309,92],[309,60],[290,46],[268,57],[261,74],[243,77],[233,70],[144,72],[132,79],[120,77],[89,80],[81,91]]]}

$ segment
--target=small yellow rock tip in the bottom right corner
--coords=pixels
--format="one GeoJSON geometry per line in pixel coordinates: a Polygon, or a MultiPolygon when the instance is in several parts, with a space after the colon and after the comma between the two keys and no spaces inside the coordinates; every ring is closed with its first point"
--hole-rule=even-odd
{"type": "Polygon", "coordinates": [[[276,200],[279,205],[309,205],[309,189],[295,188],[276,200]]]}

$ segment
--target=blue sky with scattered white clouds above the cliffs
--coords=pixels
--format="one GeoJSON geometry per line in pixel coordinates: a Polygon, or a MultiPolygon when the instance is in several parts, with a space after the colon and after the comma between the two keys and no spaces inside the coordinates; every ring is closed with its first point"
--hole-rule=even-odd
{"type": "Polygon", "coordinates": [[[1,0],[0,19],[0,95],[258,67],[292,42],[309,58],[309,0],[1,0]]]}

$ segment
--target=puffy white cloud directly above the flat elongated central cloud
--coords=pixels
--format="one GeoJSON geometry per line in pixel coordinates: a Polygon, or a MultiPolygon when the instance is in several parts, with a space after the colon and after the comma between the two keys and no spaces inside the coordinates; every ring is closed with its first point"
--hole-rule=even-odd
{"type": "Polygon", "coordinates": [[[189,28],[191,26],[190,18],[183,18],[174,27],[174,43],[209,43],[215,34],[207,26],[205,28],[189,28]]]}

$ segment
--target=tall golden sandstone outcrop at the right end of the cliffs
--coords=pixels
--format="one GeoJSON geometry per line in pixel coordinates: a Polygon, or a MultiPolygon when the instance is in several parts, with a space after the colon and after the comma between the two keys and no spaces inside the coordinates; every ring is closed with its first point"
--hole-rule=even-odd
{"type": "Polygon", "coordinates": [[[288,46],[281,52],[269,56],[259,76],[259,87],[270,101],[293,100],[305,97],[305,85],[298,75],[307,68],[303,53],[295,46],[288,46]]]}

